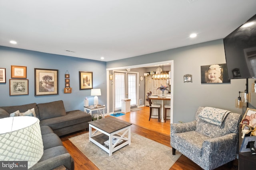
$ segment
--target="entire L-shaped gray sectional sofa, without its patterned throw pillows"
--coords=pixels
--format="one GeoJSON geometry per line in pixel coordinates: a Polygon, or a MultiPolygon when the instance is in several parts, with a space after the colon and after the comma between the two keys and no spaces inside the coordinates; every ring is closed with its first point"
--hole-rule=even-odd
{"type": "Polygon", "coordinates": [[[63,101],[60,100],[42,104],[0,107],[0,119],[10,117],[10,115],[19,116],[32,110],[40,120],[44,154],[38,163],[30,169],[51,170],[64,165],[67,169],[74,170],[74,160],[62,145],[59,136],[88,129],[88,122],[92,120],[91,115],[80,110],[66,112],[63,101]],[[17,112],[18,110],[20,113],[17,112]]]}

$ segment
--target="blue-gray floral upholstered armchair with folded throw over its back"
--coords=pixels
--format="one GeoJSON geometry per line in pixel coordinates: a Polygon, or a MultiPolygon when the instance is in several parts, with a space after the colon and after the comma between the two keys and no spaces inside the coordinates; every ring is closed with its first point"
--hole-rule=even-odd
{"type": "Polygon", "coordinates": [[[205,170],[236,158],[241,115],[214,107],[199,107],[196,120],[171,123],[172,154],[178,150],[205,170]]]}

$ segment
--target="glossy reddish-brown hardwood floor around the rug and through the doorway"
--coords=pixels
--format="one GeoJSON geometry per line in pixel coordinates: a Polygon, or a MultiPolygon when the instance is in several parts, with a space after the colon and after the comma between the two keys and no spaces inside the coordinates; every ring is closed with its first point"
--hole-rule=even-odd
{"type": "MultiPolygon", "coordinates": [[[[149,107],[141,107],[142,110],[131,111],[116,117],[124,121],[132,123],[132,132],[138,135],[147,137],[153,141],[161,143],[170,147],[170,120],[167,120],[166,123],[158,122],[158,119],[149,118],[149,107]]],[[[77,149],[68,138],[74,137],[83,133],[88,133],[88,131],[78,131],[69,135],[61,137],[64,147],[71,154],[75,163],[75,170],[98,170],[98,168],[79,150],[77,149]]],[[[228,168],[227,165],[223,165],[216,170],[237,170],[238,161],[234,162],[232,168],[228,168]]],[[[170,170],[202,170],[200,166],[192,162],[186,156],[182,155],[170,168],[170,170]]]]}

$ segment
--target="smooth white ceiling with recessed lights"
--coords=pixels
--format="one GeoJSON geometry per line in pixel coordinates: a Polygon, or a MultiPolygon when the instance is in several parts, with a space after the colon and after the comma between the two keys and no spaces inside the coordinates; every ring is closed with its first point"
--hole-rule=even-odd
{"type": "Polygon", "coordinates": [[[0,0],[0,45],[113,61],[222,39],[255,9],[256,0],[0,0]]]}

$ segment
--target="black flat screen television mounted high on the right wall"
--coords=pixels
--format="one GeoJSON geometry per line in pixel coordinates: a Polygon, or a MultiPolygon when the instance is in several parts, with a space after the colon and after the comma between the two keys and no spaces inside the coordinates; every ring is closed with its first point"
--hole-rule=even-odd
{"type": "Polygon", "coordinates": [[[223,39],[228,79],[256,78],[256,15],[223,39]]]}

